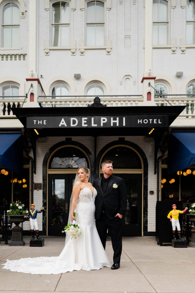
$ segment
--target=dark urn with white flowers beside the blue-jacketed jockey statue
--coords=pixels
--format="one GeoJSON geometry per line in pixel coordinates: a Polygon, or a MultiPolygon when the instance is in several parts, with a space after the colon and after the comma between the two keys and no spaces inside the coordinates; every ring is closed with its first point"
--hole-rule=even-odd
{"type": "Polygon", "coordinates": [[[25,221],[24,216],[28,213],[27,209],[24,209],[24,205],[17,200],[10,204],[10,209],[7,210],[7,215],[10,216],[10,222],[13,222],[16,226],[12,228],[12,236],[10,246],[23,246],[22,228],[19,226],[20,223],[25,221]]]}

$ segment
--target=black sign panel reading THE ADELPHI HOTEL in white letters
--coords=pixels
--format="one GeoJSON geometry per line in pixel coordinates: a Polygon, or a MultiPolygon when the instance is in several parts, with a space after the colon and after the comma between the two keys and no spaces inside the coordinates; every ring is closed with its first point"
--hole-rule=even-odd
{"type": "Polygon", "coordinates": [[[168,127],[168,116],[27,117],[27,128],[168,127]]]}

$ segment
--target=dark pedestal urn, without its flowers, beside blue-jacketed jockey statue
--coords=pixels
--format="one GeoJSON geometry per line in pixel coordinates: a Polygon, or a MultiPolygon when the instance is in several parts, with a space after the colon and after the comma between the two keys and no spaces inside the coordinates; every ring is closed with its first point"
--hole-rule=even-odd
{"type": "Polygon", "coordinates": [[[10,215],[10,222],[14,223],[16,226],[11,229],[12,236],[9,246],[24,246],[22,228],[19,226],[20,223],[25,221],[25,215],[10,215]]]}

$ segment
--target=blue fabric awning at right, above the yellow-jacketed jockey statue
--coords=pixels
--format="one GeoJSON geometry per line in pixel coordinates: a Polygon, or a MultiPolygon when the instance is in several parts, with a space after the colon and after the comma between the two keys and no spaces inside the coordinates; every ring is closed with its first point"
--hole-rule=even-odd
{"type": "Polygon", "coordinates": [[[168,146],[168,171],[174,173],[195,164],[195,132],[172,132],[168,146]]]}

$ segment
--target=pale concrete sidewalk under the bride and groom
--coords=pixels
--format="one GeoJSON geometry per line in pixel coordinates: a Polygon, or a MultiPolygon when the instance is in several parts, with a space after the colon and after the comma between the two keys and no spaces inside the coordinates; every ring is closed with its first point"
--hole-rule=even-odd
{"type": "MultiPolygon", "coordinates": [[[[0,263],[5,260],[57,256],[64,247],[64,237],[44,236],[45,246],[29,247],[0,244],[0,263]]],[[[110,238],[106,253],[112,263],[110,238]]],[[[158,246],[155,237],[123,237],[121,268],[73,271],[59,275],[31,275],[0,268],[0,293],[107,292],[107,293],[194,293],[195,248],[158,246]]]]}

